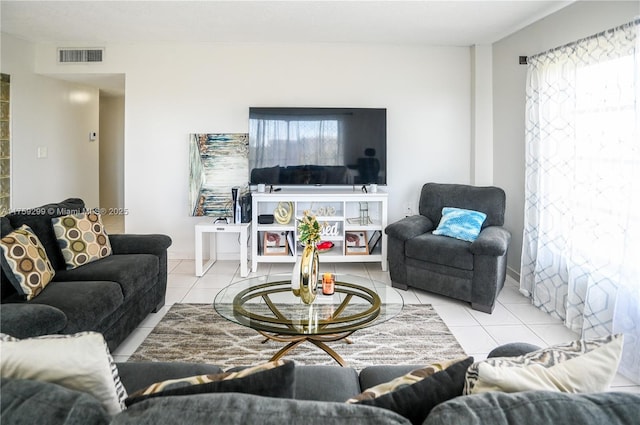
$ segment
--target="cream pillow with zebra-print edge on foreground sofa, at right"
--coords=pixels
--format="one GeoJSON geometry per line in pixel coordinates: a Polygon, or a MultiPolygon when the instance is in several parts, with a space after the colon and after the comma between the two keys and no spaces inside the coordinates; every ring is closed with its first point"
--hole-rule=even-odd
{"type": "Polygon", "coordinates": [[[623,339],[619,334],[578,340],[518,357],[476,362],[467,370],[464,393],[606,391],[618,370],[623,339]]]}

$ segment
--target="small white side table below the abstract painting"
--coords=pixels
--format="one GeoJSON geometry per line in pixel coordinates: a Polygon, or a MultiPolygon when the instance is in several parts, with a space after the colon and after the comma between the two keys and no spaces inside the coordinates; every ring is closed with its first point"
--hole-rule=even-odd
{"type": "Polygon", "coordinates": [[[247,277],[249,270],[247,267],[249,240],[249,229],[251,223],[198,223],[196,224],[196,276],[204,275],[217,260],[216,233],[239,233],[240,234],[240,276],[247,277]],[[206,264],[202,264],[202,239],[204,234],[209,233],[209,259],[206,264]]]}

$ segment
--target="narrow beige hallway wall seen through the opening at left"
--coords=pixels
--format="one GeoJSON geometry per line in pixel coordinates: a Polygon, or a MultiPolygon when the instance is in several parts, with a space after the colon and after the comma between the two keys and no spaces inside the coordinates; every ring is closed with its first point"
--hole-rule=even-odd
{"type": "Polygon", "coordinates": [[[100,207],[124,208],[124,96],[100,93],[100,207]]]}

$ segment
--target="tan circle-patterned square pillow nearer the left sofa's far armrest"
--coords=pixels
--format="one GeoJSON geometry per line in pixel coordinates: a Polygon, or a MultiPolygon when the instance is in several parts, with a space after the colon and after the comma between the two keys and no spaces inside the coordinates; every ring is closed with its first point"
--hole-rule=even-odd
{"type": "Polygon", "coordinates": [[[111,255],[109,236],[99,214],[70,214],[51,223],[67,270],[111,255]]]}

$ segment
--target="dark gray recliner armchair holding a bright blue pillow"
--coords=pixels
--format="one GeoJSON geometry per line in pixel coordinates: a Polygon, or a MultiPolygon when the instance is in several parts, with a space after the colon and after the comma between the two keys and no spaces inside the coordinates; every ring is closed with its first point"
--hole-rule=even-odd
{"type": "Polygon", "coordinates": [[[511,233],[504,229],[506,197],[498,187],[427,183],[419,214],[385,229],[393,286],[414,287],[471,303],[491,313],[504,285],[511,233]],[[487,214],[474,242],[432,234],[443,207],[487,214]]]}

